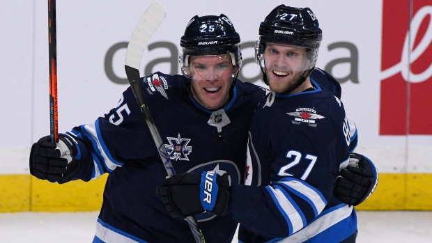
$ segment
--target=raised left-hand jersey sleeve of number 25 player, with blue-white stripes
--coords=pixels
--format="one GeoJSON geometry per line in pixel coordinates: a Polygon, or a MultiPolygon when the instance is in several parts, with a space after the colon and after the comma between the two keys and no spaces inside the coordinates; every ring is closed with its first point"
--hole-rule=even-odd
{"type": "Polygon", "coordinates": [[[93,180],[126,162],[157,155],[131,88],[105,116],[74,127],[68,134],[75,137],[79,148],[75,157],[80,160],[79,171],[72,180],[93,180]]]}

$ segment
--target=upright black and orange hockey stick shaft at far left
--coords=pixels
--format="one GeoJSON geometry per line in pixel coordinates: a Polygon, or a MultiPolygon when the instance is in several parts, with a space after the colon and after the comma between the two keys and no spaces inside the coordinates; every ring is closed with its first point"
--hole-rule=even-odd
{"type": "Polygon", "coordinates": [[[51,143],[59,142],[59,114],[57,107],[57,31],[56,0],[48,0],[49,40],[49,134],[51,143]]]}

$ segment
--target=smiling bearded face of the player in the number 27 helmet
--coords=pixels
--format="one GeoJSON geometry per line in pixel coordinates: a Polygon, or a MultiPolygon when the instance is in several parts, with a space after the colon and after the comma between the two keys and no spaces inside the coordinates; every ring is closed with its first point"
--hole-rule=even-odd
{"type": "MultiPolygon", "coordinates": [[[[286,93],[307,70],[310,63],[306,48],[288,45],[267,44],[263,53],[268,86],[276,93],[286,93]]],[[[303,91],[303,84],[290,93],[303,91]]]]}

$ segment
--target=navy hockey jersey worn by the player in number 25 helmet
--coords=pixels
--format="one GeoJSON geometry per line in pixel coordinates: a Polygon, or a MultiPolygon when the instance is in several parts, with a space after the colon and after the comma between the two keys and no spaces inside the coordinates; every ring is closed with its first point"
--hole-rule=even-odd
{"type": "MultiPolygon", "coordinates": [[[[141,81],[176,173],[215,170],[228,172],[233,184],[244,180],[247,131],[268,91],[237,81],[231,102],[209,111],[190,96],[183,76],[156,72],[141,81]]],[[[171,218],[156,194],[167,173],[131,88],[105,117],[71,133],[81,160],[73,179],[109,173],[93,242],[194,242],[187,222],[171,218]]],[[[228,216],[196,218],[210,243],[231,242],[238,225],[228,216]]]]}

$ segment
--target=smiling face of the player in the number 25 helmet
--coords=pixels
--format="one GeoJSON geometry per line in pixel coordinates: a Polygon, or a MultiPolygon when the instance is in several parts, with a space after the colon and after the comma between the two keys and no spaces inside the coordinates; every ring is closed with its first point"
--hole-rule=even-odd
{"type": "Polygon", "coordinates": [[[196,102],[206,109],[222,107],[229,97],[232,75],[237,71],[231,56],[191,56],[188,69],[196,102]]]}

